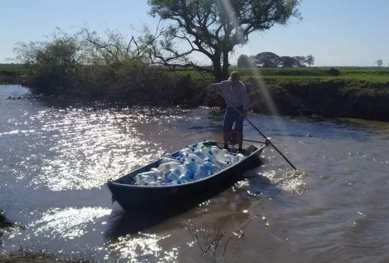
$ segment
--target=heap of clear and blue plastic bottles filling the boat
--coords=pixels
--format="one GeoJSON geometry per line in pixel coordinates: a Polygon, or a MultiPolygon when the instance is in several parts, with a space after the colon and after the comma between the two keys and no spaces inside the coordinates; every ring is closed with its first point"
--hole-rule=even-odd
{"type": "Polygon", "coordinates": [[[210,143],[197,143],[181,149],[175,156],[165,155],[157,168],[139,173],[134,185],[172,185],[206,178],[242,160],[241,153],[231,153],[210,143]]]}

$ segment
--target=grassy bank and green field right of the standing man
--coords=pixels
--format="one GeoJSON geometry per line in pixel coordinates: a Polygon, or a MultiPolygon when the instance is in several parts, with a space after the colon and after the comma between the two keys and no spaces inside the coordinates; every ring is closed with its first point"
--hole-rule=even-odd
{"type": "MultiPolygon", "coordinates": [[[[388,68],[237,70],[248,87],[253,112],[389,121],[388,68]]],[[[220,98],[210,101],[209,106],[223,105],[220,98]]]]}

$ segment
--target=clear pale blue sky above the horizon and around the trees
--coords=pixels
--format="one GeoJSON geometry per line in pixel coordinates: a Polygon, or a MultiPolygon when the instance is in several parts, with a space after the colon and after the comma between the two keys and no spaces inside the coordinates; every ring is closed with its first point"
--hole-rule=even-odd
{"type": "MultiPolygon", "coordinates": [[[[231,62],[242,53],[272,51],[312,54],[317,66],[375,66],[377,59],[388,66],[389,0],[303,0],[300,9],[301,22],[251,35],[231,62]]],[[[43,40],[55,27],[74,32],[88,25],[99,33],[110,28],[130,34],[130,24],[155,26],[148,10],[146,0],[0,0],[0,63],[14,56],[15,43],[43,40]]]]}

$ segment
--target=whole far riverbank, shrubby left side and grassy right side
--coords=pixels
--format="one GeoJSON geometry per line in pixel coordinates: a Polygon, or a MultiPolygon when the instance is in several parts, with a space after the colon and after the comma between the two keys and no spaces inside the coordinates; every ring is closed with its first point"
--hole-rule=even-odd
{"type": "MultiPolygon", "coordinates": [[[[23,65],[1,65],[9,82],[24,82],[35,93],[49,93],[85,100],[105,100],[128,105],[224,106],[208,90],[211,75],[193,71],[124,66],[120,76],[82,75],[80,80],[58,86],[50,78],[45,88],[34,76],[26,77],[23,65]],[[136,72],[137,73],[136,73],[136,72]],[[9,73],[14,72],[14,73],[9,73]],[[29,84],[30,83],[30,84],[29,84]]],[[[389,121],[389,68],[231,68],[239,70],[248,86],[252,111],[271,115],[321,115],[389,121]]],[[[88,71],[88,70],[87,70],[88,71]]],[[[90,70],[90,72],[92,72],[90,70]]],[[[0,73],[1,76],[1,73],[0,73]]],[[[1,77],[0,77],[1,80],[1,77]]],[[[38,79],[42,81],[41,79],[38,79]]],[[[63,83],[63,81],[61,81],[63,83]]]]}

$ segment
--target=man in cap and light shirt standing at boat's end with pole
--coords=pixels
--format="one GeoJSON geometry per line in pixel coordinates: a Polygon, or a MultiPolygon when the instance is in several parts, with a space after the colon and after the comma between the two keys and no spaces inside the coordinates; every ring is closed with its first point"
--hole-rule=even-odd
{"type": "Polygon", "coordinates": [[[228,148],[228,140],[232,125],[235,122],[234,130],[237,131],[238,151],[242,152],[243,145],[243,120],[247,115],[249,99],[246,85],[240,81],[239,72],[231,72],[227,81],[211,84],[213,88],[221,91],[227,103],[226,114],[223,121],[224,148],[228,148]]]}

